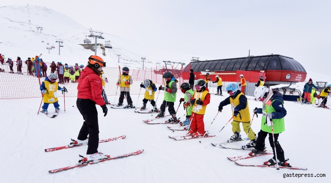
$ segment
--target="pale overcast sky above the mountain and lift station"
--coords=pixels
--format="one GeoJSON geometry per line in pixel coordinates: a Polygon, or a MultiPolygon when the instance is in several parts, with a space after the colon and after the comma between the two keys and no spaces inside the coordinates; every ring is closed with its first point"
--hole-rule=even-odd
{"type": "MultiPolygon", "coordinates": [[[[330,72],[331,1],[2,0],[38,5],[78,23],[145,45],[231,58],[293,57],[306,70],[330,72]]],[[[188,58],[190,59],[190,58],[188,58]]]]}

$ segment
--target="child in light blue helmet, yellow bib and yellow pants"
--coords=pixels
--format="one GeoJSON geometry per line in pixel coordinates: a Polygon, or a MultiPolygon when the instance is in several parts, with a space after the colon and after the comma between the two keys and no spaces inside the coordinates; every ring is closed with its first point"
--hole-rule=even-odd
{"type": "Polygon", "coordinates": [[[240,123],[243,127],[244,132],[251,140],[247,143],[246,147],[252,148],[256,145],[256,135],[252,128],[250,129],[251,125],[251,116],[250,116],[250,109],[247,98],[243,93],[240,92],[238,89],[237,84],[231,83],[227,86],[227,92],[230,97],[226,98],[224,101],[219,103],[218,111],[222,111],[223,107],[231,104],[233,121],[231,122],[232,125],[232,132],[234,133],[233,136],[228,140],[228,142],[238,141],[240,140],[240,123]]]}

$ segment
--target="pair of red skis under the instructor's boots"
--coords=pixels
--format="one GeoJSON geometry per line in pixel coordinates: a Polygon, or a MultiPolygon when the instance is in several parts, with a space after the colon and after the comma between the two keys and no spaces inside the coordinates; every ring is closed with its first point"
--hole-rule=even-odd
{"type": "MultiPolygon", "coordinates": [[[[99,143],[110,142],[110,141],[115,141],[115,140],[119,140],[119,139],[124,139],[125,137],[126,137],[125,135],[122,135],[122,136],[115,137],[115,138],[99,140],[99,143]]],[[[71,139],[71,140],[72,141],[75,141],[73,139],[71,139]]],[[[87,145],[87,143],[77,144],[77,145],[66,145],[66,146],[60,146],[60,147],[46,148],[45,149],[45,152],[52,152],[52,151],[56,151],[56,150],[66,149],[66,148],[79,147],[79,146],[82,146],[82,145],[87,145]]],[[[92,162],[82,162],[82,161],[79,161],[79,163],[77,163],[76,165],[68,166],[68,167],[63,167],[63,168],[58,168],[58,169],[54,169],[54,170],[49,170],[48,172],[49,173],[56,173],[56,172],[60,172],[60,171],[64,171],[64,170],[70,170],[70,169],[77,168],[77,167],[84,167],[84,166],[87,166],[87,165],[92,165],[92,164],[96,164],[96,163],[105,162],[105,161],[108,161],[108,160],[115,160],[115,159],[120,159],[120,158],[126,158],[126,157],[129,157],[129,156],[140,155],[140,154],[143,153],[143,151],[144,151],[144,149],[140,149],[140,150],[134,151],[134,152],[129,153],[129,154],[124,154],[124,155],[119,155],[119,156],[114,156],[114,157],[111,157],[109,155],[105,155],[105,158],[104,159],[99,159],[99,160],[95,160],[95,161],[92,161],[92,162]]],[[[82,156],[79,155],[79,157],[82,157],[82,156]]]]}

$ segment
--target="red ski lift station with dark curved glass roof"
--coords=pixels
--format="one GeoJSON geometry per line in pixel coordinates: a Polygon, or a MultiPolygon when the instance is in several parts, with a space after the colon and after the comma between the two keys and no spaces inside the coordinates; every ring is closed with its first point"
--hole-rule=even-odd
{"type": "Polygon", "coordinates": [[[254,96],[255,84],[259,76],[265,78],[265,86],[295,84],[304,82],[307,72],[295,59],[279,54],[247,56],[217,60],[200,61],[192,59],[183,70],[183,79],[189,79],[189,70],[193,69],[195,79],[203,79],[206,73],[212,80],[218,75],[226,82],[240,82],[242,74],[247,82],[246,95],[254,96]]]}

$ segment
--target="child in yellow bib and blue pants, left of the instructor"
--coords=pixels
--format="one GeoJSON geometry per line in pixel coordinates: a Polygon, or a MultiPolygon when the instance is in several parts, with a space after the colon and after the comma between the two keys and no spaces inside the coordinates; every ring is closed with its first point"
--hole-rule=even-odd
{"type": "Polygon", "coordinates": [[[41,93],[44,94],[43,101],[44,105],[42,107],[42,113],[48,114],[48,105],[53,104],[55,107],[55,112],[59,112],[60,105],[58,103],[58,93],[57,90],[67,92],[65,87],[61,88],[57,82],[58,76],[51,73],[40,85],[41,93]]]}

